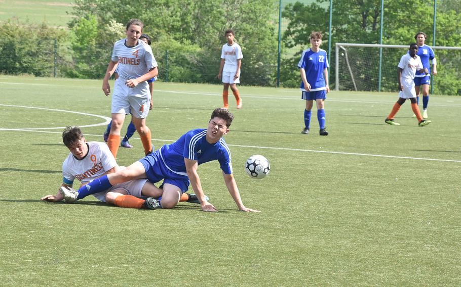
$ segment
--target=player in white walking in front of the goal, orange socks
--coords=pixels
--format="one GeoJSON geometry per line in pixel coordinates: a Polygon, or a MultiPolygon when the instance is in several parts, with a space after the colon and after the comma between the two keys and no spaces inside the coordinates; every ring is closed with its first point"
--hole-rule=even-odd
{"type": "Polygon", "coordinates": [[[429,120],[424,120],[416,103],[416,92],[414,90],[414,75],[416,71],[428,74],[428,68],[422,67],[421,59],[416,55],[418,52],[418,45],[416,43],[410,44],[408,49],[409,53],[402,56],[399,62],[399,100],[394,104],[391,113],[386,118],[385,122],[390,125],[400,125],[394,121],[394,117],[400,110],[400,107],[407,99],[410,99],[411,109],[418,119],[418,126],[425,126],[431,123],[429,120]]]}

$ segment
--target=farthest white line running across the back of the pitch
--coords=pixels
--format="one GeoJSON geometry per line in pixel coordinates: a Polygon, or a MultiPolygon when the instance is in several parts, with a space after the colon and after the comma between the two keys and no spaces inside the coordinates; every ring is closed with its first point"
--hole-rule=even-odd
{"type": "MultiPolygon", "coordinates": [[[[12,83],[12,82],[0,82],[0,84],[13,84],[13,85],[39,85],[39,86],[65,86],[66,85],[55,85],[55,84],[37,84],[37,83],[12,83]]],[[[77,87],[77,86],[73,86],[77,87]]],[[[99,89],[99,88],[98,88],[99,89]]],[[[172,90],[162,90],[162,89],[155,89],[155,91],[161,92],[169,92],[169,93],[179,93],[179,94],[197,94],[197,95],[212,95],[217,96],[221,95],[219,92],[191,92],[191,91],[172,91],[172,90]]],[[[288,91],[288,90],[284,90],[288,91]]],[[[294,91],[289,91],[294,92],[294,91]]],[[[289,100],[289,101],[298,101],[301,100],[300,95],[287,95],[287,97],[280,97],[280,95],[255,95],[255,94],[245,94],[245,98],[255,98],[255,99],[270,99],[270,100],[289,100]]],[[[396,93],[397,99],[397,93],[396,93]]],[[[358,104],[389,104],[395,103],[395,101],[359,101],[356,99],[328,99],[328,102],[339,102],[339,103],[358,103],[358,104]]],[[[461,104],[431,104],[431,106],[435,107],[461,107],[461,104]]]]}

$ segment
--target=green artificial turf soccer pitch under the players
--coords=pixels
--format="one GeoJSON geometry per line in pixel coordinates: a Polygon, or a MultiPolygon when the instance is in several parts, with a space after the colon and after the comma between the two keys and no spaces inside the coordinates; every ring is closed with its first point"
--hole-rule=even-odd
{"type": "MultiPolygon", "coordinates": [[[[389,126],[396,92],[332,91],[322,137],[315,109],[312,133],[300,134],[297,89],[241,86],[225,139],[244,204],[261,213],[237,210],[217,162],[199,174],[219,213],[40,202],[62,182],[62,127],[102,141],[101,85],[0,76],[0,285],[459,286],[461,98],[432,97],[427,127],[406,103],[401,126],[389,126]],[[244,171],[254,154],[271,162],[262,180],[244,171]]],[[[206,127],[220,90],[157,82],[147,118],[156,149],[206,127]]],[[[137,134],[132,143],[120,165],[142,157],[137,134]]]]}

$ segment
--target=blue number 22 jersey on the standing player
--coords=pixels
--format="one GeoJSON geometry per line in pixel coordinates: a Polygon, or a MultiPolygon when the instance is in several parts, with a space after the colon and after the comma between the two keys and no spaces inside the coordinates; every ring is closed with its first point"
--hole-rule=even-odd
{"type": "MultiPolygon", "coordinates": [[[[325,78],[323,76],[323,70],[327,69],[328,57],[325,50],[319,49],[319,52],[315,53],[311,49],[302,52],[301,60],[299,60],[298,68],[305,70],[306,79],[311,85],[311,91],[325,90],[325,78]]],[[[301,90],[305,91],[304,83],[301,81],[301,90]]]]}

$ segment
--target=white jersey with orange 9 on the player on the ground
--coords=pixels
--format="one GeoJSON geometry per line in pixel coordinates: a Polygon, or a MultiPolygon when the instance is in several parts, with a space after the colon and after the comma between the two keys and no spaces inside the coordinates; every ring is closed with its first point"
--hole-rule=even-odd
{"type": "Polygon", "coordinates": [[[88,154],[81,160],[70,153],[62,163],[62,181],[72,185],[76,178],[82,183],[102,176],[106,171],[118,166],[109,147],[104,142],[89,141],[88,154]]]}

